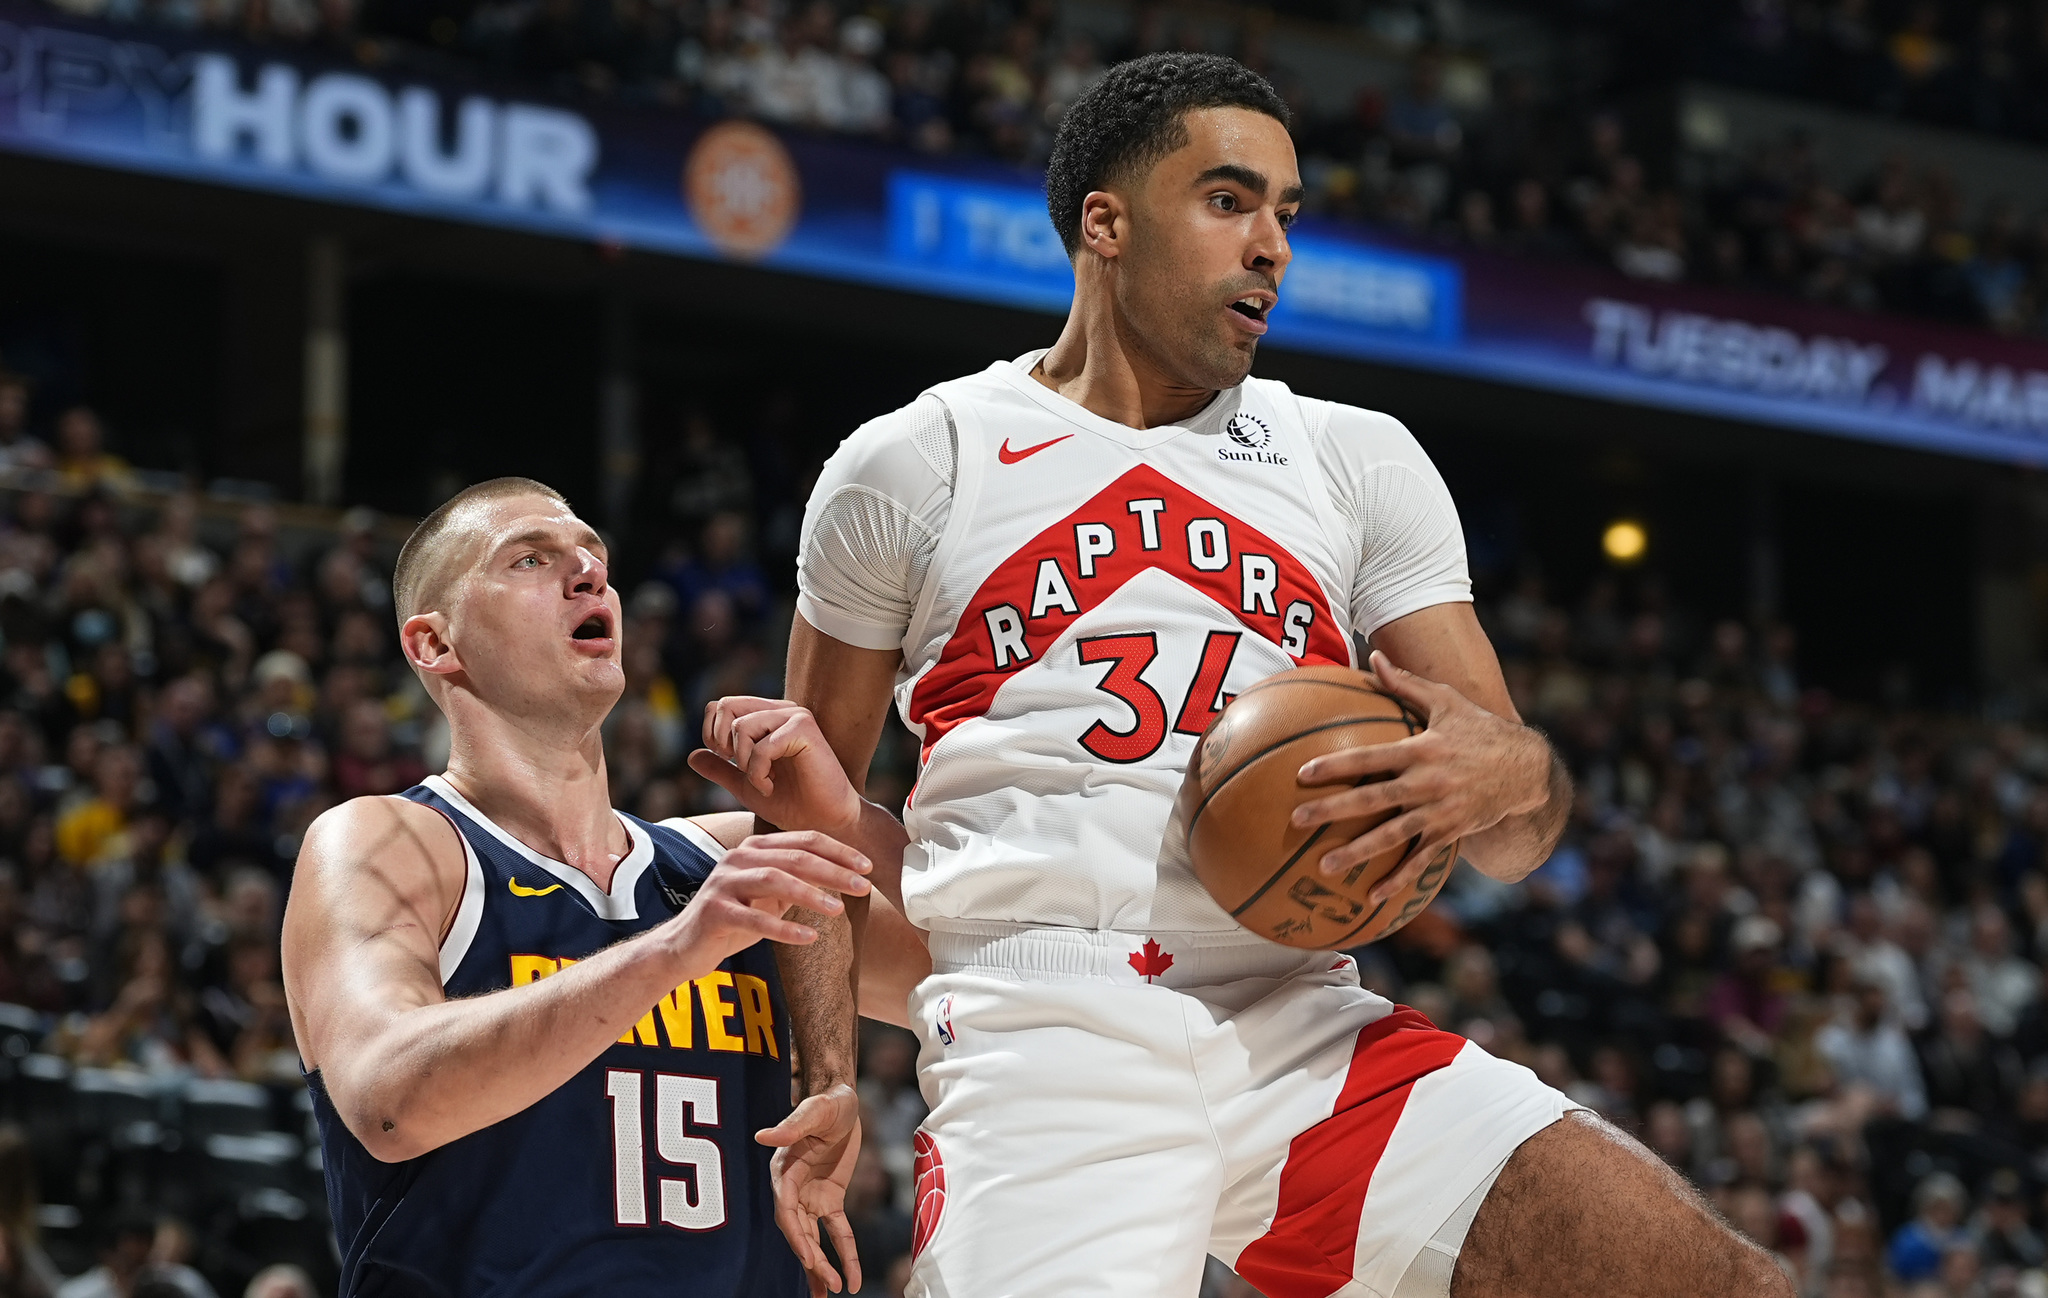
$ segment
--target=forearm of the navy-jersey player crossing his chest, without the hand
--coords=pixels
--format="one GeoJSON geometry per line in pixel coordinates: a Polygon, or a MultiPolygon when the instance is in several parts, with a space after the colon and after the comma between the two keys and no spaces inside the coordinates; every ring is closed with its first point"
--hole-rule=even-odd
{"type": "Polygon", "coordinates": [[[526,1110],[717,966],[670,938],[655,929],[524,987],[391,1015],[360,1048],[324,1061],[342,1122],[393,1163],[526,1110]]]}

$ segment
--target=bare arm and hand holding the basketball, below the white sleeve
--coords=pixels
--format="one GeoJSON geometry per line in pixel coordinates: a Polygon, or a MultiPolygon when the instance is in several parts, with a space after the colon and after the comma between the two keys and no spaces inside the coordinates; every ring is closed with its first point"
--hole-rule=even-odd
{"type": "Polygon", "coordinates": [[[1378,889],[1384,901],[1409,886],[1444,846],[1483,874],[1513,882],[1540,866],[1571,813],[1571,774],[1542,731],[1522,723],[1493,643],[1464,602],[1434,604],[1372,635],[1372,672],[1421,712],[1430,729],[1411,739],[1356,747],[1309,762],[1303,784],[1356,784],[1305,803],[1300,825],[1401,815],[1323,856],[1341,872],[1380,852],[1413,848],[1378,889]],[[1372,782],[1360,782],[1372,778],[1372,782]]]}

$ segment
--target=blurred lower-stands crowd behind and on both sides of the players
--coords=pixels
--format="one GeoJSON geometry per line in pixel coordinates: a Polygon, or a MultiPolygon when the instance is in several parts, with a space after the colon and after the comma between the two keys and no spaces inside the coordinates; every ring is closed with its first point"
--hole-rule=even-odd
{"type": "MultiPolygon", "coordinates": [[[[78,1069],[297,1093],[276,925],[299,835],[446,751],[395,653],[401,532],[143,491],[90,409],[31,430],[23,397],[0,379],[0,1001],[78,1069]]],[[[606,731],[614,801],[649,819],[721,807],[684,766],[696,717],[774,692],[786,641],[786,573],[754,557],[784,502],[731,430],[692,436],[682,540],[627,577],[606,731]]],[[[1368,981],[1640,1134],[1802,1294],[2048,1294],[2048,733],[1837,698],[1792,629],[1702,620],[1649,577],[1489,581],[1481,614],[1571,762],[1573,823],[1524,884],[1460,870],[1360,952],[1368,981]]],[[[872,1294],[909,1241],[913,1067],[870,1026],[850,1204],[872,1294]]],[[[211,1292],[207,1226],[137,1218],[145,1189],[88,1189],[90,1163],[0,1128],[0,1294],[211,1292]],[[98,1230],[63,1267],[84,1278],[37,1245],[35,1173],[98,1230]]]]}

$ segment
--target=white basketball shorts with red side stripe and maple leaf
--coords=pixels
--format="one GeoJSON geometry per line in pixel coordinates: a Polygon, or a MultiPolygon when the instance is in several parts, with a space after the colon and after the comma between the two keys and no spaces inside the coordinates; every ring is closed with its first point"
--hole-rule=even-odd
{"type": "Polygon", "coordinates": [[[1268,1298],[1395,1298],[1579,1108],[1346,956],[977,925],[932,964],[911,1298],[1194,1298],[1210,1253],[1268,1298]]]}

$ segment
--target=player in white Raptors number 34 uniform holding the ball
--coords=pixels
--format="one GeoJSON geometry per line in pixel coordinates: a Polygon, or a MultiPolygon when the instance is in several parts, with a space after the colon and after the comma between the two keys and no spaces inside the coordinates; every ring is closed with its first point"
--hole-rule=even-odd
{"type": "MultiPolygon", "coordinates": [[[[1196,735],[1264,676],[1350,663],[1354,633],[1430,729],[1303,768],[1329,786],[1305,825],[1401,809],[1325,870],[1413,843],[1386,895],[1462,841],[1518,880],[1571,782],[1516,717],[1409,432],[1247,379],[1300,207],[1272,88],[1210,55],[1122,63],[1063,121],[1047,197],[1065,332],[840,446],[791,700],[723,700],[694,758],[866,852],[928,934],[909,1292],[1188,1298],[1212,1253],[1268,1298],[1790,1294],[1626,1134],[1196,884],[1171,825],[1196,735]],[[899,878],[852,792],[891,692],[924,745],[899,878]]],[[[918,958],[817,923],[782,962],[811,1099],[768,1136],[813,1290],[838,1286],[815,1220],[844,1237],[858,1142],[852,960],[918,958]]]]}

